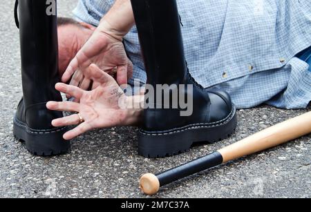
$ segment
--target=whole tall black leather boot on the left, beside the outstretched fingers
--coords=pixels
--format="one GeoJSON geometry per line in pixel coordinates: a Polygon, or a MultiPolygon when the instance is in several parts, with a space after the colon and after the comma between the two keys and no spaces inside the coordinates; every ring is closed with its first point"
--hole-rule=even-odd
{"type": "Polygon", "coordinates": [[[67,129],[51,125],[53,119],[63,114],[46,108],[48,101],[62,101],[55,90],[59,81],[57,17],[47,15],[48,6],[45,0],[19,0],[15,4],[23,99],[15,115],[14,135],[25,142],[30,153],[41,156],[66,153],[70,149],[70,142],[62,137],[67,129]]]}

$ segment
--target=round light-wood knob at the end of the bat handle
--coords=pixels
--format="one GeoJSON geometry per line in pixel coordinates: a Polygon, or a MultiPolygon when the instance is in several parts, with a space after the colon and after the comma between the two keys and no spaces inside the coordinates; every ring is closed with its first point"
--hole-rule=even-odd
{"type": "Polygon", "coordinates": [[[140,178],[140,189],[147,195],[155,195],[160,189],[158,177],[151,173],[142,175],[140,178]]]}

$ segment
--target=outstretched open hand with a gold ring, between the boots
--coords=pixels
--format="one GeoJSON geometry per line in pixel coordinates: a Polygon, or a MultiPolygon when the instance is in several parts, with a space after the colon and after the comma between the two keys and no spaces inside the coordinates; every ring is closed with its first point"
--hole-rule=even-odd
{"type": "Polygon", "coordinates": [[[86,91],[62,83],[55,86],[60,92],[79,99],[79,103],[48,102],[46,105],[50,110],[79,113],[53,120],[52,124],[55,127],[77,125],[64,134],[64,139],[73,139],[95,128],[128,126],[137,122],[140,110],[126,109],[130,97],[126,97],[113,77],[94,64],[88,67],[85,77],[95,81],[98,84],[97,88],[86,91]],[[81,123],[80,117],[84,122],[81,123]]]}

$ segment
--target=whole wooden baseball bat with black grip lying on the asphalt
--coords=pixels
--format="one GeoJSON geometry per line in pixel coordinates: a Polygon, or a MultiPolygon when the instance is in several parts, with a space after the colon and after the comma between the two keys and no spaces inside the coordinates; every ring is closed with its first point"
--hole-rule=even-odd
{"type": "Polygon", "coordinates": [[[140,178],[140,189],[147,195],[155,195],[161,186],[204,171],[207,168],[285,144],[309,133],[311,133],[311,112],[266,128],[198,160],[171,168],[169,171],[164,171],[158,175],[147,173],[140,178]]]}

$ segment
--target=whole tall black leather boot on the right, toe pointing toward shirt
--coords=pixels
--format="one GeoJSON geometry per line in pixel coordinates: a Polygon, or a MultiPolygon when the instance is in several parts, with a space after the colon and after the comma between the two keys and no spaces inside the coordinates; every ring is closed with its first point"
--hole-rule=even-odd
{"type": "MultiPolygon", "coordinates": [[[[154,108],[144,110],[144,124],[138,135],[139,154],[144,157],[176,155],[188,151],[194,143],[217,142],[231,135],[237,117],[229,95],[223,90],[202,88],[189,74],[176,0],[131,0],[131,3],[148,84],[153,87],[176,85],[178,91],[181,84],[193,86],[192,90],[182,92],[193,99],[190,116],[181,116],[180,106],[173,109],[173,101],[169,109],[164,109],[162,102],[148,99],[148,105],[154,108]],[[157,108],[159,105],[162,108],[157,108]]],[[[173,89],[164,93],[173,93],[173,89]]]]}

